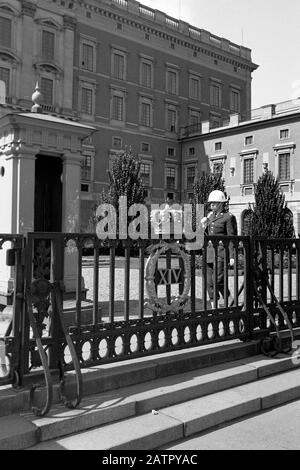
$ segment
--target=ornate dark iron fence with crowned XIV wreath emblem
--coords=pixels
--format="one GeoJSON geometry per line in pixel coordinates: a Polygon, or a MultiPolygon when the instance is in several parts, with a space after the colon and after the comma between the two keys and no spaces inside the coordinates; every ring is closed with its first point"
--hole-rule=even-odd
{"type": "MultiPolygon", "coordinates": [[[[200,251],[186,250],[182,240],[101,241],[94,234],[30,233],[26,240],[8,235],[0,240],[12,241],[15,253],[10,263],[13,321],[4,339],[10,371],[0,384],[24,384],[45,367],[50,383],[54,371],[63,379],[74,367],[245,341],[286,329],[287,319],[300,326],[300,240],[209,236],[200,251]],[[230,245],[233,269],[228,266],[230,245]],[[213,309],[207,297],[211,247],[215,265],[221,252],[224,261],[219,266],[224,269],[223,299],[216,288],[218,268],[212,274],[213,309]],[[259,295],[275,325],[255,292],[256,253],[261,269],[269,268],[271,290],[288,315],[280,315],[268,284],[262,282],[259,295]]],[[[79,382],[77,389],[79,401],[79,382]]]]}

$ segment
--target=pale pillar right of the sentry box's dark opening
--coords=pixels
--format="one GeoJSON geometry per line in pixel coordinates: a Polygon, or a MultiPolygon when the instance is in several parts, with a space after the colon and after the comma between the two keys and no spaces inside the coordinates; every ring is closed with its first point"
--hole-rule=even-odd
{"type": "MultiPolygon", "coordinates": [[[[63,157],[62,232],[76,233],[80,227],[81,154],[66,153],[63,157]]],[[[64,284],[66,294],[76,292],[77,250],[69,244],[65,249],[64,284]]],[[[84,283],[83,283],[84,284],[84,283]]]]}

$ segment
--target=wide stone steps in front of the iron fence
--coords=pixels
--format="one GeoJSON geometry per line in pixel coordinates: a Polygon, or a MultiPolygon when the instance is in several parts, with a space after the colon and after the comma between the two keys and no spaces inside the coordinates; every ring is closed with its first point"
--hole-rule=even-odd
{"type": "MultiPolygon", "coordinates": [[[[1,387],[0,449],[163,448],[300,398],[293,359],[259,354],[258,341],[231,341],[84,369],[79,407],[65,408],[56,385],[45,417],[29,409],[28,390],[1,387]]],[[[72,373],[67,382],[72,394],[72,373]]]]}

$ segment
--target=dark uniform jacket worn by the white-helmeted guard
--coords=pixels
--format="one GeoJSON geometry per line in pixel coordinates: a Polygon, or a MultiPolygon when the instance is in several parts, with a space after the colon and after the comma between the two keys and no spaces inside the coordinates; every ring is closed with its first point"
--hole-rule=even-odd
{"type": "MultiPolygon", "coordinates": [[[[236,218],[230,212],[220,212],[219,214],[209,214],[208,224],[206,227],[207,235],[237,235],[236,218]]],[[[218,247],[218,257],[224,258],[225,249],[223,246],[218,247]]],[[[229,244],[229,258],[233,258],[233,247],[229,244]]],[[[215,251],[212,242],[208,242],[206,262],[213,263],[215,259],[215,251]]]]}

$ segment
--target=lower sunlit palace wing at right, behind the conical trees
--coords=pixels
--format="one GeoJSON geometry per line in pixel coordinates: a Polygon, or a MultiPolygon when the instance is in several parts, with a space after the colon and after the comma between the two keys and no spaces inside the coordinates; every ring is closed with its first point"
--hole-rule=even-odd
{"type": "Polygon", "coordinates": [[[300,98],[253,109],[249,120],[232,114],[219,128],[202,122],[198,131],[185,131],[180,141],[185,199],[192,195],[190,175],[201,171],[199,162],[208,160],[212,172],[223,172],[230,210],[243,233],[254,204],[255,183],[270,170],[278,177],[300,236],[300,98]]]}

